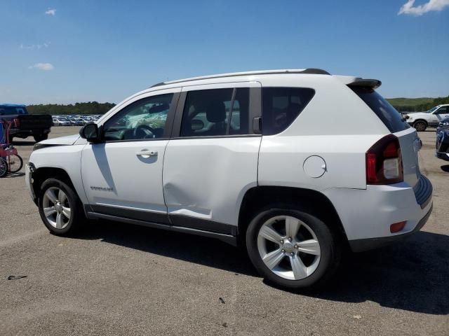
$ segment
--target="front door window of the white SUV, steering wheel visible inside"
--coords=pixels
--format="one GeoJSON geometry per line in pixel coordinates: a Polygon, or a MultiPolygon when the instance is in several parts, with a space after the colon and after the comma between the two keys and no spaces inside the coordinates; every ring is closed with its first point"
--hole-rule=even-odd
{"type": "Polygon", "coordinates": [[[173,93],[147,97],[126,106],[107,120],[105,140],[158,139],[166,130],[166,120],[173,93]]]}

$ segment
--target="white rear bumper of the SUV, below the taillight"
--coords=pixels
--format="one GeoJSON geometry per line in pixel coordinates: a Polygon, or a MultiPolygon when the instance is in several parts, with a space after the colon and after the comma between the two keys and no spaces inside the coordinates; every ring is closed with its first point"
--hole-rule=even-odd
{"type": "Polygon", "coordinates": [[[412,234],[427,222],[432,209],[432,186],[420,176],[415,188],[407,183],[367,186],[359,189],[328,189],[323,192],[334,204],[353,251],[383,246],[412,234]],[[406,222],[391,233],[390,225],[406,222]]]}

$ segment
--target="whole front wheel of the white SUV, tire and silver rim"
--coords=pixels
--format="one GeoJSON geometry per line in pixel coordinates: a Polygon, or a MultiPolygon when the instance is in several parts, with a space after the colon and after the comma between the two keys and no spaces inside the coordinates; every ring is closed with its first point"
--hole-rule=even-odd
{"type": "Polygon", "coordinates": [[[73,235],[86,221],[78,195],[58,179],[47,179],[42,183],[38,207],[43,223],[54,235],[73,235]]]}

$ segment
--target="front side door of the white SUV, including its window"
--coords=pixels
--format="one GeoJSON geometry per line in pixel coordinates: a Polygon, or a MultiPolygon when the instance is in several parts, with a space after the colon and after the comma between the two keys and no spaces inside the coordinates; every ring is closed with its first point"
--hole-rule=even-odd
{"type": "Polygon", "coordinates": [[[90,211],[168,223],[163,155],[180,89],[135,97],[102,121],[104,141],[83,150],[81,174],[90,211]]]}

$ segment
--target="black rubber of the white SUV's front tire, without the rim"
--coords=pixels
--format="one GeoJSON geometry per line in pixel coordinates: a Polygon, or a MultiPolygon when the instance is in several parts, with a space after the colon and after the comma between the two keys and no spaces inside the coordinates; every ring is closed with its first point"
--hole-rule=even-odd
{"type": "Polygon", "coordinates": [[[64,181],[60,181],[58,179],[47,179],[42,183],[41,190],[39,191],[38,207],[39,207],[39,214],[41,215],[43,223],[45,224],[46,228],[54,235],[58,236],[73,235],[75,232],[78,232],[82,228],[83,223],[87,221],[86,216],[84,216],[83,213],[83,204],[79,200],[78,195],[76,195],[76,192],[73,190],[72,187],[68,186],[67,183],[65,183],[64,181]],[[59,188],[67,196],[69,208],[71,209],[70,211],[71,215],[69,221],[67,222],[67,225],[64,228],[55,228],[55,226],[53,226],[48,221],[46,215],[43,212],[43,202],[44,202],[43,198],[46,191],[50,188],[59,188]]]}

